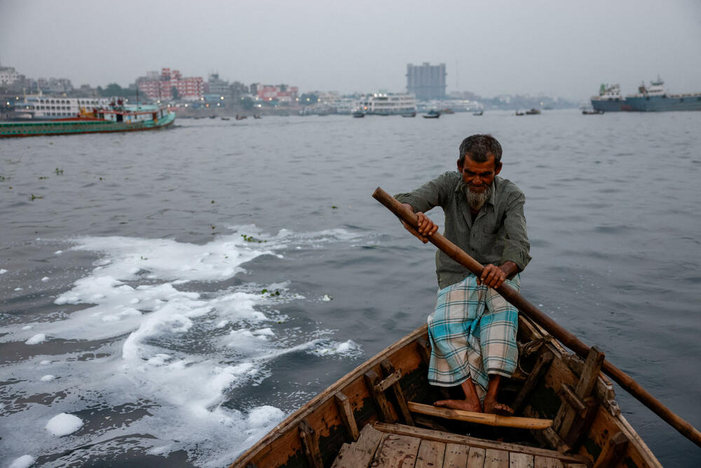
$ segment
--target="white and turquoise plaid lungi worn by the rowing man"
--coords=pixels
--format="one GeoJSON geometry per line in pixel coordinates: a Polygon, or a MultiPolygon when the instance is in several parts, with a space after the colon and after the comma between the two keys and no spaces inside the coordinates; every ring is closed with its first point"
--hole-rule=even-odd
{"type": "MultiPolygon", "coordinates": [[[[505,283],[520,290],[518,274],[505,283]]],[[[510,377],[516,368],[517,329],[518,309],[496,290],[479,286],[474,274],[443,288],[435,312],[428,316],[428,381],[453,387],[472,378],[479,399],[484,399],[489,374],[510,377]]]]}

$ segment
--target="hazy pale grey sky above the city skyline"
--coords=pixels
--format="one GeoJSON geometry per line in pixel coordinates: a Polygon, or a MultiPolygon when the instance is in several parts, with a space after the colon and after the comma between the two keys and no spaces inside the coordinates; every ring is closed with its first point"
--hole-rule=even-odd
{"type": "Polygon", "coordinates": [[[0,65],[128,86],[161,67],[308,91],[406,91],[445,63],[447,92],[586,100],[658,75],[701,92],[701,0],[0,0],[0,65]]]}

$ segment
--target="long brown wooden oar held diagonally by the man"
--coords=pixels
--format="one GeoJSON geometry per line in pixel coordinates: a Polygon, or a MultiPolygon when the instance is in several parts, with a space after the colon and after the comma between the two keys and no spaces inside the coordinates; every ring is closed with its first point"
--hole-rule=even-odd
{"type": "MultiPolygon", "coordinates": [[[[393,196],[385,192],[380,187],[377,187],[372,196],[374,199],[386,206],[392,213],[397,215],[400,220],[406,222],[409,226],[416,229],[416,215],[406,206],[402,205],[402,203],[397,201],[393,196]]],[[[433,234],[433,236],[428,237],[428,240],[437,248],[440,248],[440,250],[442,250],[450,258],[458,262],[460,265],[463,265],[463,267],[469,269],[473,274],[477,276],[482,274],[482,269],[484,269],[484,266],[482,266],[482,264],[477,262],[477,260],[474,258],[470,257],[470,255],[465,253],[461,248],[442,236],[442,234],[436,232],[433,234]]],[[[586,358],[587,354],[589,353],[589,347],[587,345],[580,341],[578,337],[559,326],[557,322],[541,312],[538,307],[527,301],[515,289],[504,283],[496,290],[512,305],[515,305],[521,312],[526,314],[526,316],[529,316],[530,319],[545,328],[547,333],[550,333],[550,335],[562,342],[563,345],[569,347],[569,349],[572,349],[580,356],[586,358]]],[[[672,412],[672,410],[667,408],[667,406],[660,403],[658,399],[655,399],[654,396],[649,394],[646,389],[641,387],[638,382],[633,380],[632,377],[627,375],[619,368],[613,366],[613,364],[608,361],[604,361],[604,363],[601,365],[601,370],[615,380],[615,382],[618,382],[618,385],[623,387],[623,389],[629,392],[629,394],[653,410],[656,415],[669,423],[683,436],[690,441],[693,441],[693,443],[695,443],[697,446],[701,447],[701,432],[679,417],[679,415],[672,412]]]]}

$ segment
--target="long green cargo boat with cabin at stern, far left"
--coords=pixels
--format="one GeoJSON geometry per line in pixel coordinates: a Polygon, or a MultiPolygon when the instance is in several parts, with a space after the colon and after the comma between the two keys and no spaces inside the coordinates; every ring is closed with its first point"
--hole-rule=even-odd
{"type": "Polygon", "coordinates": [[[0,122],[0,138],[155,130],[174,121],[175,113],[168,107],[117,100],[91,111],[81,107],[76,116],[63,119],[0,122]]]}

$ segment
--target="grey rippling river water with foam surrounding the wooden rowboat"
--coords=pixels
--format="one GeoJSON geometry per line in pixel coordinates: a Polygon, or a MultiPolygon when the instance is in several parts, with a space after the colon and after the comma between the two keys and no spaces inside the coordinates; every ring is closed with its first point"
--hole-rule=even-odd
{"type": "MultiPolygon", "coordinates": [[[[435,248],[371,194],[453,170],[472,133],[526,194],[524,296],[701,427],[699,128],[569,110],[2,140],[0,466],[235,460],[426,321],[435,248]]],[[[662,464],[698,465],[617,394],[662,464]]]]}

